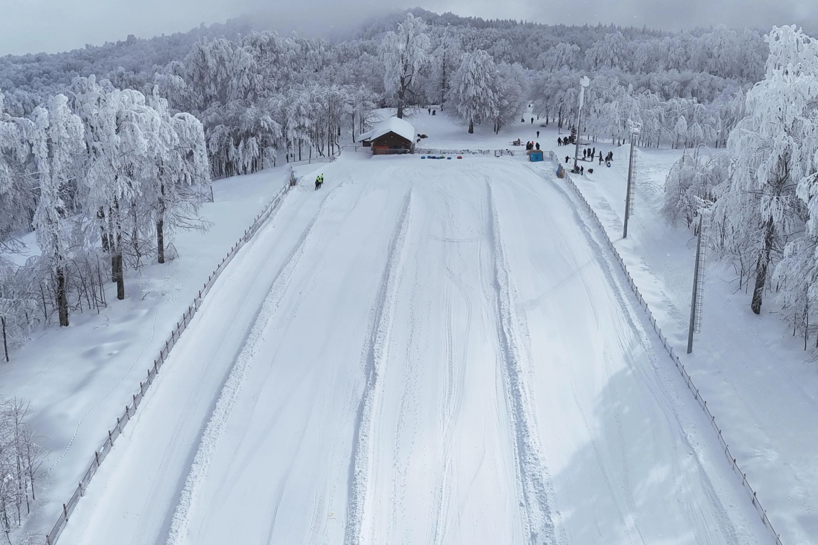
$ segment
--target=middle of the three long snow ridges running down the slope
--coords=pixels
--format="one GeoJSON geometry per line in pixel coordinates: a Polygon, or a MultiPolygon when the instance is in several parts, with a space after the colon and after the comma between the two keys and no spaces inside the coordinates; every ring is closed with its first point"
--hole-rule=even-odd
{"type": "Polygon", "coordinates": [[[373,484],[371,482],[374,445],[371,441],[372,428],[383,392],[379,381],[386,364],[389,336],[395,310],[395,289],[398,283],[398,266],[402,261],[403,247],[407,231],[411,225],[411,190],[403,201],[398,225],[389,242],[386,268],[380,281],[380,292],[372,310],[369,340],[363,355],[366,385],[358,405],[357,422],[353,437],[353,453],[350,460],[349,496],[347,525],[344,530],[344,545],[369,543],[373,516],[373,484]]]}

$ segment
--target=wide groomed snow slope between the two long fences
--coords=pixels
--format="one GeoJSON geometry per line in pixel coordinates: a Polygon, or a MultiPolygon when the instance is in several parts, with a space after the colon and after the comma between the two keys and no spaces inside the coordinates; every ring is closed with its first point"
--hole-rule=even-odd
{"type": "Polygon", "coordinates": [[[770,543],[551,165],[324,165],[61,543],[770,543]]]}

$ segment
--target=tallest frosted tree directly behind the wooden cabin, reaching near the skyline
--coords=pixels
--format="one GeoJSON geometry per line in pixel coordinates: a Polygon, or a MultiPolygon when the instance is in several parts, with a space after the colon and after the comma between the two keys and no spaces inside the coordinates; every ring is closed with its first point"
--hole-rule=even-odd
{"type": "Polygon", "coordinates": [[[384,87],[398,101],[398,118],[403,117],[407,101],[414,96],[413,84],[429,60],[431,41],[426,34],[425,22],[407,14],[398,25],[398,31],[384,36],[384,87]]]}

